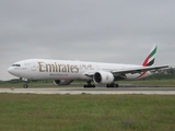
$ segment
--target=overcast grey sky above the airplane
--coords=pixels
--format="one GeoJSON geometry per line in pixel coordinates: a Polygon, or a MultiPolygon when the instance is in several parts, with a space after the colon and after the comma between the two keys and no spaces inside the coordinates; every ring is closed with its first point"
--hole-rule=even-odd
{"type": "Polygon", "coordinates": [[[175,63],[175,0],[0,0],[0,80],[31,58],[175,63]]]}

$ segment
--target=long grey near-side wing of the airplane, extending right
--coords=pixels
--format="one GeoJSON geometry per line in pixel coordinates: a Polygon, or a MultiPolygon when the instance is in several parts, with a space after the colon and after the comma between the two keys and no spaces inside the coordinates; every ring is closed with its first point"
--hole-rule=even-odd
{"type": "Polygon", "coordinates": [[[121,70],[113,70],[113,74],[127,74],[127,73],[141,73],[145,71],[156,71],[163,68],[170,68],[168,66],[152,66],[152,67],[137,67],[137,68],[128,68],[128,69],[121,69],[121,70]]]}

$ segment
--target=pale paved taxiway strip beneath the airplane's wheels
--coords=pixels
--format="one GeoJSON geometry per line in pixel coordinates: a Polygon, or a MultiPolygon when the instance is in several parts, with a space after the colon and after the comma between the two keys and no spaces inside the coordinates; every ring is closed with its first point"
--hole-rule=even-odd
{"type": "Polygon", "coordinates": [[[175,95],[175,87],[118,87],[118,88],[83,88],[83,87],[55,87],[55,88],[0,88],[0,93],[16,94],[160,94],[175,95]]]}

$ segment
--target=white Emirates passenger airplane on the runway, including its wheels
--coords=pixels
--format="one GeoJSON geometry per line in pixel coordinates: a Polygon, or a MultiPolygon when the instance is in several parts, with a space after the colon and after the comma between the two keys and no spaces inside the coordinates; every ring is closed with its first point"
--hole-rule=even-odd
{"type": "MultiPolygon", "coordinates": [[[[142,66],[51,59],[26,59],[13,63],[8,72],[23,81],[52,80],[56,85],[69,85],[74,80],[86,81],[84,87],[106,84],[118,87],[115,81],[139,80],[158,73],[168,66],[153,66],[158,46],[153,45],[142,66]],[[92,84],[94,82],[94,84],[92,84]]],[[[28,85],[25,83],[24,88],[28,85]]]]}

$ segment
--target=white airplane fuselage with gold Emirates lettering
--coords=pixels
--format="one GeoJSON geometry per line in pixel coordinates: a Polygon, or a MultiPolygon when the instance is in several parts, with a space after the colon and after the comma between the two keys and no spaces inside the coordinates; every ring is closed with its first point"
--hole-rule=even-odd
{"type": "MultiPolygon", "coordinates": [[[[135,64],[118,64],[103,62],[85,62],[85,61],[69,61],[69,60],[48,60],[48,59],[28,59],[13,63],[8,71],[18,76],[27,80],[93,80],[91,75],[86,75],[105,71],[124,70],[129,68],[139,68],[142,66],[135,64]]],[[[148,71],[145,78],[152,73],[148,71]]],[[[126,80],[135,80],[140,73],[127,73],[126,80]]]]}

